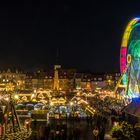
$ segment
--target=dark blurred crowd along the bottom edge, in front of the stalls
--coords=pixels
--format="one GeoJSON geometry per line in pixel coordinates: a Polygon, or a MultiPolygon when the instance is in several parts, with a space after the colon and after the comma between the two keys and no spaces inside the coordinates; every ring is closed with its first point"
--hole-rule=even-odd
{"type": "MultiPolygon", "coordinates": [[[[69,122],[59,122],[59,120],[53,120],[50,124],[37,125],[37,122],[33,124],[34,140],[80,140],[82,137],[83,128],[86,127],[86,131],[91,131],[92,137],[95,140],[104,140],[105,133],[109,130],[108,119],[99,115],[87,115],[85,126],[80,125],[80,118],[72,118],[69,122]]],[[[84,139],[83,139],[84,140],[84,139]]]]}

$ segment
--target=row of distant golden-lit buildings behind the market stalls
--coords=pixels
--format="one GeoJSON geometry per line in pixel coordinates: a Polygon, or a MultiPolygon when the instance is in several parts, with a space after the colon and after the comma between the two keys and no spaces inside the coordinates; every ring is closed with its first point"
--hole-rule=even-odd
{"type": "Polygon", "coordinates": [[[33,73],[11,72],[10,69],[0,73],[0,90],[5,90],[7,83],[13,83],[18,90],[48,89],[59,91],[87,91],[102,88],[106,85],[116,85],[120,73],[92,74],[79,73],[76,69],[54,68],[50,71],[33,73]]]}

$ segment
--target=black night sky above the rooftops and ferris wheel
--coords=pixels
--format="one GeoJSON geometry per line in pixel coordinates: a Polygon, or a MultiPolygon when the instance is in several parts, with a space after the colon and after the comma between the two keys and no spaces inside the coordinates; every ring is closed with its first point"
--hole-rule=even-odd
{"type": "Polygon", "coordinates": [[[80,71],[119,71],[128,21],[139,0],[12,3],[0,6],[0,69],[50,69],[56,62],[80,71]]]}

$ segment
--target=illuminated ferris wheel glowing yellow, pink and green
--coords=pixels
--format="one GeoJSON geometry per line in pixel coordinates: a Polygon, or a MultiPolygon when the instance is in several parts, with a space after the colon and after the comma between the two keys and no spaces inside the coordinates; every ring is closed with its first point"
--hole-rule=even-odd
{"type": "Polygon", "coordinates": [[[132,19],[124,32],[120,51],[122,84],[130,97],[140,93],[140,18],[132,19]]]}

